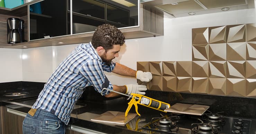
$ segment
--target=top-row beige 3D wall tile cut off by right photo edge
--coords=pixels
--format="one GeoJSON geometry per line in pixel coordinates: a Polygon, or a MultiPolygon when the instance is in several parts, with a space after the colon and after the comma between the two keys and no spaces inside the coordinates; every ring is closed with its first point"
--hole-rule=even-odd
{"type": "Polygon", "coordinates": [[[246,24],[246,41],[255,42],[256,41],[256,23],[246,24]]]}

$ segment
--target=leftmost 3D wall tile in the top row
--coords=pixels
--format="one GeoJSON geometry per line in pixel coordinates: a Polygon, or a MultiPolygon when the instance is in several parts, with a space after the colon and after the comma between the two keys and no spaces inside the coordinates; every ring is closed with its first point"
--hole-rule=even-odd
{"type": "Polygon", "coordinates": [[[208,44],[209,31],[208,28],[192,29],[192,44],[208,44]]]}

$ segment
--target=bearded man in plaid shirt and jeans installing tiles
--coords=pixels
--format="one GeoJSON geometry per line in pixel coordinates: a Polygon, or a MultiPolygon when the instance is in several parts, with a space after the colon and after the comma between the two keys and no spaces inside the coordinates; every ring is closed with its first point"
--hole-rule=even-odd
{"type": "MultiPolygon", "coordinates": [[[[112,60],[125,42],[120,30],[109,24],[98,26],[89,44],[81,44],[60,63],[39,93],[38,99],[23,121],[24,134],[64,134],[70,114],[85,87],[97,92],[103,88],[122,93],[144,95],[144,85],[112,85],[103,71],[136,77],[149,82],[150,72],[135,71],[112,60]]],[[[119,94],[105,91],[105,97],[119,94]]]]}

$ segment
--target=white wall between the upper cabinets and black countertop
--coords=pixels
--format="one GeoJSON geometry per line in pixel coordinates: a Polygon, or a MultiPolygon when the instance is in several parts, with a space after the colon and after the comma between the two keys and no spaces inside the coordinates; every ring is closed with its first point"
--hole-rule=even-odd
{"type": "MultiPolygon", "coordinates": [[[[126,45],[121,47],[120,56],[114,60],[134,70],[136,70],[137,61],[191,61],[192,28],[249,24],[255,22],[255,9],[226,11],[180,18],[172,18],[168,14],[165,14],[164,36],[127,39],[126,45]]],[[[22,50],[22,72],[21,70],[12,72],[13,70],[8,68],[9,65],[13,66],[16,62],[1,66],[0,71],[5,73],[9,72],[10,78],[7,81],[23,80],[46,82],[58,64],[77,45],[78,44],[24,49],[22,50]]],[[[4,50],[11,51],[12,53],[20,51],[2,48],[0,52],[4,50]]],[[[2,53],[0,55],[2,55],[2,53]]],[[[7,55],[9,55],[9,53],[3,53],[3,56],[0,57],[0,61],[6,61],[3,59],[5,59],[4,57],[7,55]]],[[[18,57],[19,55],[13,60],[19,61],[18,65],[21,67],[21,61],[18,57]]],[[[107,73],[107,77],[113,84],[117,85],[136,83],[134,78],[125,78],[114,73],[107,73]]],[[[0,82],[4,80],[5,79],[1,76],[0,82]]]]}

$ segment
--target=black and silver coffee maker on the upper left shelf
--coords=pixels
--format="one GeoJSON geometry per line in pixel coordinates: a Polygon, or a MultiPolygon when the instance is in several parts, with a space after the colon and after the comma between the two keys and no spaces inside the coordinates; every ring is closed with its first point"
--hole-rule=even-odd
{"type": "Polygon", "coordinates": [[[24,20],[19,18],[7,19],[7,43],[24,42],[24,20]]]}

